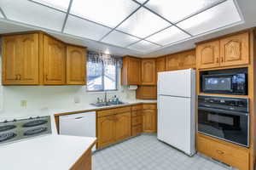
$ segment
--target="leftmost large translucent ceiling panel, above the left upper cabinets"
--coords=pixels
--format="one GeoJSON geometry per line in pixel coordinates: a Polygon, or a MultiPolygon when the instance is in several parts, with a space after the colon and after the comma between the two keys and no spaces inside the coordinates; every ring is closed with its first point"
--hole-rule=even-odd
{"type": "Polygon", "coordinates": [[[66,16],[54,9],[24,0],[1,0],[0,6],[9,20],[55,31],[61,31],[66,16]]]}

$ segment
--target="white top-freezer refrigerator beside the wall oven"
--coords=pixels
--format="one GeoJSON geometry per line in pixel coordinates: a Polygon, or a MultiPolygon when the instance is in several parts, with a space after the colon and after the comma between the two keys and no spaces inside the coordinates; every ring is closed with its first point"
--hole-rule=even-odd
{"type": "Polygon", "coordinates": [[[158,73],[157,138],[185,154],[195,154],[195,71],[158,73]]]}

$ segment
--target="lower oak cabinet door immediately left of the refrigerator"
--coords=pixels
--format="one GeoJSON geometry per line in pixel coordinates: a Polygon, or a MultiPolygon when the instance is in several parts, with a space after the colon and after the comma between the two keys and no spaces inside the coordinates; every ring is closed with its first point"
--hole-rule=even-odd
{"type": "Polygon", "coordinates": [[[143,133],[156,133],[156,105],[143,105],[143,133]]]}

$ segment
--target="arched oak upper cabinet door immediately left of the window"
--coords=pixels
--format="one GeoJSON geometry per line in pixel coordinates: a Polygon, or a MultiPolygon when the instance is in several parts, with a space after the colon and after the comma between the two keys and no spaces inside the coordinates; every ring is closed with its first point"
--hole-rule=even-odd
{"type": "Polygon", "coordinates": [[[85,84],[86,50],[67,46],[67,84],[85,84]]]}

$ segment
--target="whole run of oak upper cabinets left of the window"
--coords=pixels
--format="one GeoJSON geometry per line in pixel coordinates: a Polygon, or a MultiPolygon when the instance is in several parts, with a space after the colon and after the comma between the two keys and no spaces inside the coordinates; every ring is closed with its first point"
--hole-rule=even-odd
{"type": "Polygon", "coordinates": [[[3,85],[85,84],[85,48],[42,31],[3,35],[2,45],[3,85]]]}

